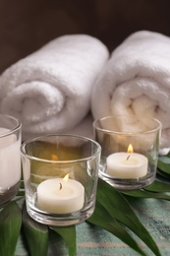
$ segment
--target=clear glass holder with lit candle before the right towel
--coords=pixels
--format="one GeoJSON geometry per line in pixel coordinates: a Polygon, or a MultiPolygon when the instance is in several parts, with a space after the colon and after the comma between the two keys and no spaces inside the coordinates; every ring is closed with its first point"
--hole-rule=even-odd
{"type": "Polygon", "coordinates": [[[93,122],[101,146],[99,177],[121,190],[140,189],[156,175],[161,123],[156,119],[115,115],[93,122]]]}

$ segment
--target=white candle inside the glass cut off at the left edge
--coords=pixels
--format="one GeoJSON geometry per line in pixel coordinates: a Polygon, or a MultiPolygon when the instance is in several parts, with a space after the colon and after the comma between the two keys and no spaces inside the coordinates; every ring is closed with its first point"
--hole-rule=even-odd
{"type": "MultiPolygon", "coordinates": [[[[10,130],[0,128],[0,134],[10,130]]],[[[0,138],[0,190],[14,186],[21,178],[21,141],[15,134],[0,138]]]]}

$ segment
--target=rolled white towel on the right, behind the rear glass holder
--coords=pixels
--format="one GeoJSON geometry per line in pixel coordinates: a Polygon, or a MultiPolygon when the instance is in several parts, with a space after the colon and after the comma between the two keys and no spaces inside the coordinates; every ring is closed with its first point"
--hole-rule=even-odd
{"type": "Polygon", "coordinates": [[[115,114],[157,118],[163,126],[160,147],[169,148],[170,37],[142,31],[125,39],[95,83],[91,110],[94,119],[115,114]]]}

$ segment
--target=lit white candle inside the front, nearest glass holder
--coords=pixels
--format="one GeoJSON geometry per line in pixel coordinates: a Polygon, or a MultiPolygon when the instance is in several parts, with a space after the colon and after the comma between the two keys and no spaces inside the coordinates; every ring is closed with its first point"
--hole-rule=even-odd
{"type": "Polygon", "coordinates": [[[85,187],[76,180],[47,179],[37,186],[37,206],[48,213],[73,213],[81,210],[84,202],[85,187]]]}

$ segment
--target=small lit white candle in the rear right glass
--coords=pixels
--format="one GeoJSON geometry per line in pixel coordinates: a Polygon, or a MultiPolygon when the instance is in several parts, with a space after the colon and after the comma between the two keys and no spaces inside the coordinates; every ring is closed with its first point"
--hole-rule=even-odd
{"type": "Polygon", "coordinates": [[[137,153],[115,153],[107,160],[107,174],[118,178],[140,178],[146,175],[148,160],[137,153]]]}

